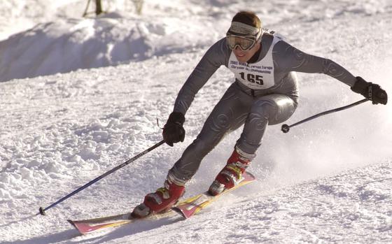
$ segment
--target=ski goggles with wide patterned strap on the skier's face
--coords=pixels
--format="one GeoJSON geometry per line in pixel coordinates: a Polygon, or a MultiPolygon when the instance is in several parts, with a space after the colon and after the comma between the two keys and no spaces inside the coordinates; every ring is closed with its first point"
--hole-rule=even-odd
{"type": "Polygon", "coordinates": [[[247,51],[254,47],[262,33],[262,28],[252,27],[241,22],[232,22],[226,33],[226,42],[231,50],[239,47],[241,50],[247,51]]]}

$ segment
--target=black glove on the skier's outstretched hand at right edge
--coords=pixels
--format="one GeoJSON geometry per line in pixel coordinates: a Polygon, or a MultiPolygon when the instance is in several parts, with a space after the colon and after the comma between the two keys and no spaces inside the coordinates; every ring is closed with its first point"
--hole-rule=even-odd
{"type": "Polygon", "coordinates": [[[377,84],[363,80],[363,78],[359,76],[356,78],[356,82],[353,87],[351,87],[351,90],[365,96],[367,99],[372,100],[373,104],[386,104],[388,101],[388,95],[384,89],[377,84]]]}

